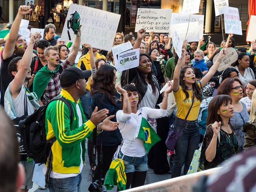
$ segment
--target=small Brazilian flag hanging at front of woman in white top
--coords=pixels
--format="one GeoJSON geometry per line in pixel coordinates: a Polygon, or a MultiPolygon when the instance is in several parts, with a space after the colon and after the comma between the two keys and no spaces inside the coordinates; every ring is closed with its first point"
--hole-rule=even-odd
{"type": "Polygon", "coordinates": [[[159,136],[156,134],[156,132],[149,125],[147,120],[143,117],[141,120],[140,131],[138,133],[137,138],[140,138],[145,141],[144,147],[147,150],[147,154],[149,153],[151,147],[161,140],[159,136]]]}

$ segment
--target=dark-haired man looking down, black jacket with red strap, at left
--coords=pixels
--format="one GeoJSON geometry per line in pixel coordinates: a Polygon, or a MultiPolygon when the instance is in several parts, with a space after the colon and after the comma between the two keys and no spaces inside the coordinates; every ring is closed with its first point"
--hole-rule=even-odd
{"type": "Polygon", "coordinates": [[[33,91],[33,81],[36,76],[35,72],[38,72],[40,69],[43,68],[43,66],[47,64],[45,60],[44,52],[46,47],[49,47],[49,46],[51,46],[51,44],[45,39],[41,39],[36,43],[36,51],[37,51],[38,57],[33,59],[31,62],[31,66],[30,66],[31,79],[29,80],[29,83],[28,83],[28,88],[31,92],[33,91]]]}

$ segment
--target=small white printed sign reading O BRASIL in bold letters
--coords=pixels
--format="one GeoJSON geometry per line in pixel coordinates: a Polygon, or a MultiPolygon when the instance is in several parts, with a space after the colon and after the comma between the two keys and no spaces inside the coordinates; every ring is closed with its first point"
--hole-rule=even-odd
{"type": "Polygon", "coordinates": [[[118,62],[115,63],[116,71],[124,71],[139,66],[140,49],[134,49],[120,53],[118,55],[118,62]]]}

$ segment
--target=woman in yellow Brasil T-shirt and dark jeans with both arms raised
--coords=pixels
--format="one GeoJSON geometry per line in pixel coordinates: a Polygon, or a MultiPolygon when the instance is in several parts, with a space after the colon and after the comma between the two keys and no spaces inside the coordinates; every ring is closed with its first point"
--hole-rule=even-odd
{"type": "MultiPolygon", "coordinates": [[[[185,41],[183,45],[183,47],[187,47],[187,41],[185,41]]],[[[209,69],[204,78],[198,82],[195,81],[194,69],[190,66],[185,66],[184,55],[183,50],[181,59],[178,60],[175,67],[173,79],[173,94],[177,105],[177,118],[174,122],[173,131],[178,132],[180,130],[180,136],[175,146],[172,178],[180,176],[183,165],[185,165],[184,175],[187,173],[194,151],[198,149],[200,132],[197,116],[201,101],[203,100],[201,88],[208,83],[218,69],[220,60],[225,56],[225,49],[221,50],[217,61],[213,64],[211,69],[209,69]],[[187,116],[192,105],[192,98],[194,98],[193,106],[187,116]],[[186,116],[187,119],[185,121],[186,116]]]]}

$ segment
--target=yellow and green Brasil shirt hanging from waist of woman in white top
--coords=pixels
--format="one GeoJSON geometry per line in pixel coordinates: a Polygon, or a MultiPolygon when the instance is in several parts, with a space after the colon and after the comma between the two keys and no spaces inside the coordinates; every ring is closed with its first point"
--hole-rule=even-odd
{"type": "Polygon", "coordinates": [[[126,173],[124,172],[123,160],[114,159],[111,162],[104,185],[107,190],[111,190],[114,185],[117,185],[119,191],[126,189],[126,173]]]}

